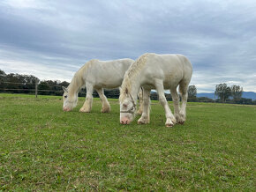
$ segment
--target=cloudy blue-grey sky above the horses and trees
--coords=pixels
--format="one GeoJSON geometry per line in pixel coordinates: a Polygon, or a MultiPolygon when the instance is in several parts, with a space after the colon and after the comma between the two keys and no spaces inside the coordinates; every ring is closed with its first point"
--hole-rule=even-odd
{"type": "Polygon", "coordinates": [[[0,70],[70,82],[95,58],[183,54],[198,92],[256,92],[255,10],[255,0],[1,0],[0,70]]]}

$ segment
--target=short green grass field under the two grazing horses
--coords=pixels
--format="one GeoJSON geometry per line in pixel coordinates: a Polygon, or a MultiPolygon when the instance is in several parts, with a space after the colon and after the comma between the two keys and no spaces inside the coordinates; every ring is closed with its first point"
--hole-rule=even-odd
{"type": "Polygon", "coordinates": [[[256,190],[255,106],[188,103],[166,128],[158,102],[125,126],[118,100],[110,114],[83,101],[64,113],[61,97],[0,94],[0,190],[256,190]]]}

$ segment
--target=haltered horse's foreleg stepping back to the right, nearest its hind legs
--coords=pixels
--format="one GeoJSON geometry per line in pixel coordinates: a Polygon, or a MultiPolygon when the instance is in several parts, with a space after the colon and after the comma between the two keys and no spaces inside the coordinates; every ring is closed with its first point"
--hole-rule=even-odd
{"type": "Polygon", "coordinates": [[[172,127],[176,123],[176,118],[174,117],[174,115],[171,113],[171,110],[169,109],[168,102],[164,95],[162,80],[157,80],[155,82],[155,88],[156,88],[156,91],[158,92],[159,101],[161,102],[162,107],[164,108],[164,111],[165,111],[165,117],[166,117],[165,126],[172,127]]]}

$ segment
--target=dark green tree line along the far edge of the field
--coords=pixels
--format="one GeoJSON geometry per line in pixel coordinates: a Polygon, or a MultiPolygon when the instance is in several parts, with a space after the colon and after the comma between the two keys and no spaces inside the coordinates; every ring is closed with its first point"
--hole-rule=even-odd
{"type": "MultiPolygon", "coordinates": [[[[62,86],[69,85],[66,81],[40,80],[33,75],[20,75],[17,73],[6,74],[4,70],[0,70],[0,92],[11,93],[29,93],[34,94],[35,85],[38,85],[38,94],[41,95],[63,95],[62,86]]],[[[79,96],[86,96],[86,90],[82,89],[79,96]]],[[[118,98],[119,89],[105,90],[107,98],[118,98]]],[[[172,100],[169,93],[165,93],[167,100],[172,100]]],[[[188,88],[188,101],[190,102],[218,102],[218,103],[237,103],[256,105],[256,100],[243,98],[243,87],[239,85],[228,86],[220,84],[215,86],[216,100],[207,97],[197,97],[197,88],[195,85],[190,85],[188,88]]],[[[97,92],[94,92],[94,97],[98,97],[97,92]]],[[[158,100],[156,92],[151,92],[151,100],[158,100]]]]}

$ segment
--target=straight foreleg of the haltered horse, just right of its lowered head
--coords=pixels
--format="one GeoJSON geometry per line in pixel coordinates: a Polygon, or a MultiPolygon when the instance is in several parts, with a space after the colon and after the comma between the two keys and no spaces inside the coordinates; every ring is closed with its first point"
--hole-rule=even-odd
{"type": "Polygon", "coordinates": [[[138,120],[138,124],[146,124],[150,122],[150,89],[143,90],[143,112],[138,120]]]}

